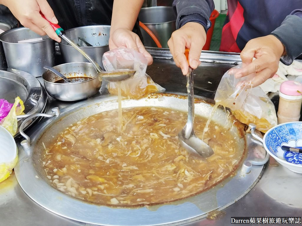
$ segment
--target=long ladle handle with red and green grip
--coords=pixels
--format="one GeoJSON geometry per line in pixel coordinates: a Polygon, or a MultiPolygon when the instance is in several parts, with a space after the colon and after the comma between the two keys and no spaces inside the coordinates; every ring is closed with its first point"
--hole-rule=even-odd
{"type": "MultiPolygon", "coordinates": [[[[41,16],[47,20],[45,18],[45,16],[42,14],[42,12],[40,12],[41,16]]],[[[48,21],[48,20],[47,20],[48,21]]],[[[95,68],[95,70],[97,72],[104,72],[101,67],[98,65],[97,62],[95,62],[94,59],[92,59],[87,53],[85,53],[75,42],[73,42],[71,39],[69,39],[66,35],[64,35],[62,33],[63,28],[60,27],[58,24],[53,24],[50,21],[48,21],[48,23],[50,24],[50,26],[53,28],[53,30],[56,32],[56,34],[58,36],[60,36],[62,39],[64,39],[66,42],[68,42],[70,45],[72,45],[74,48],[76,48],[76,50],[78,50],[90,63],[92,63],[93,67],[95,68]]]]}

